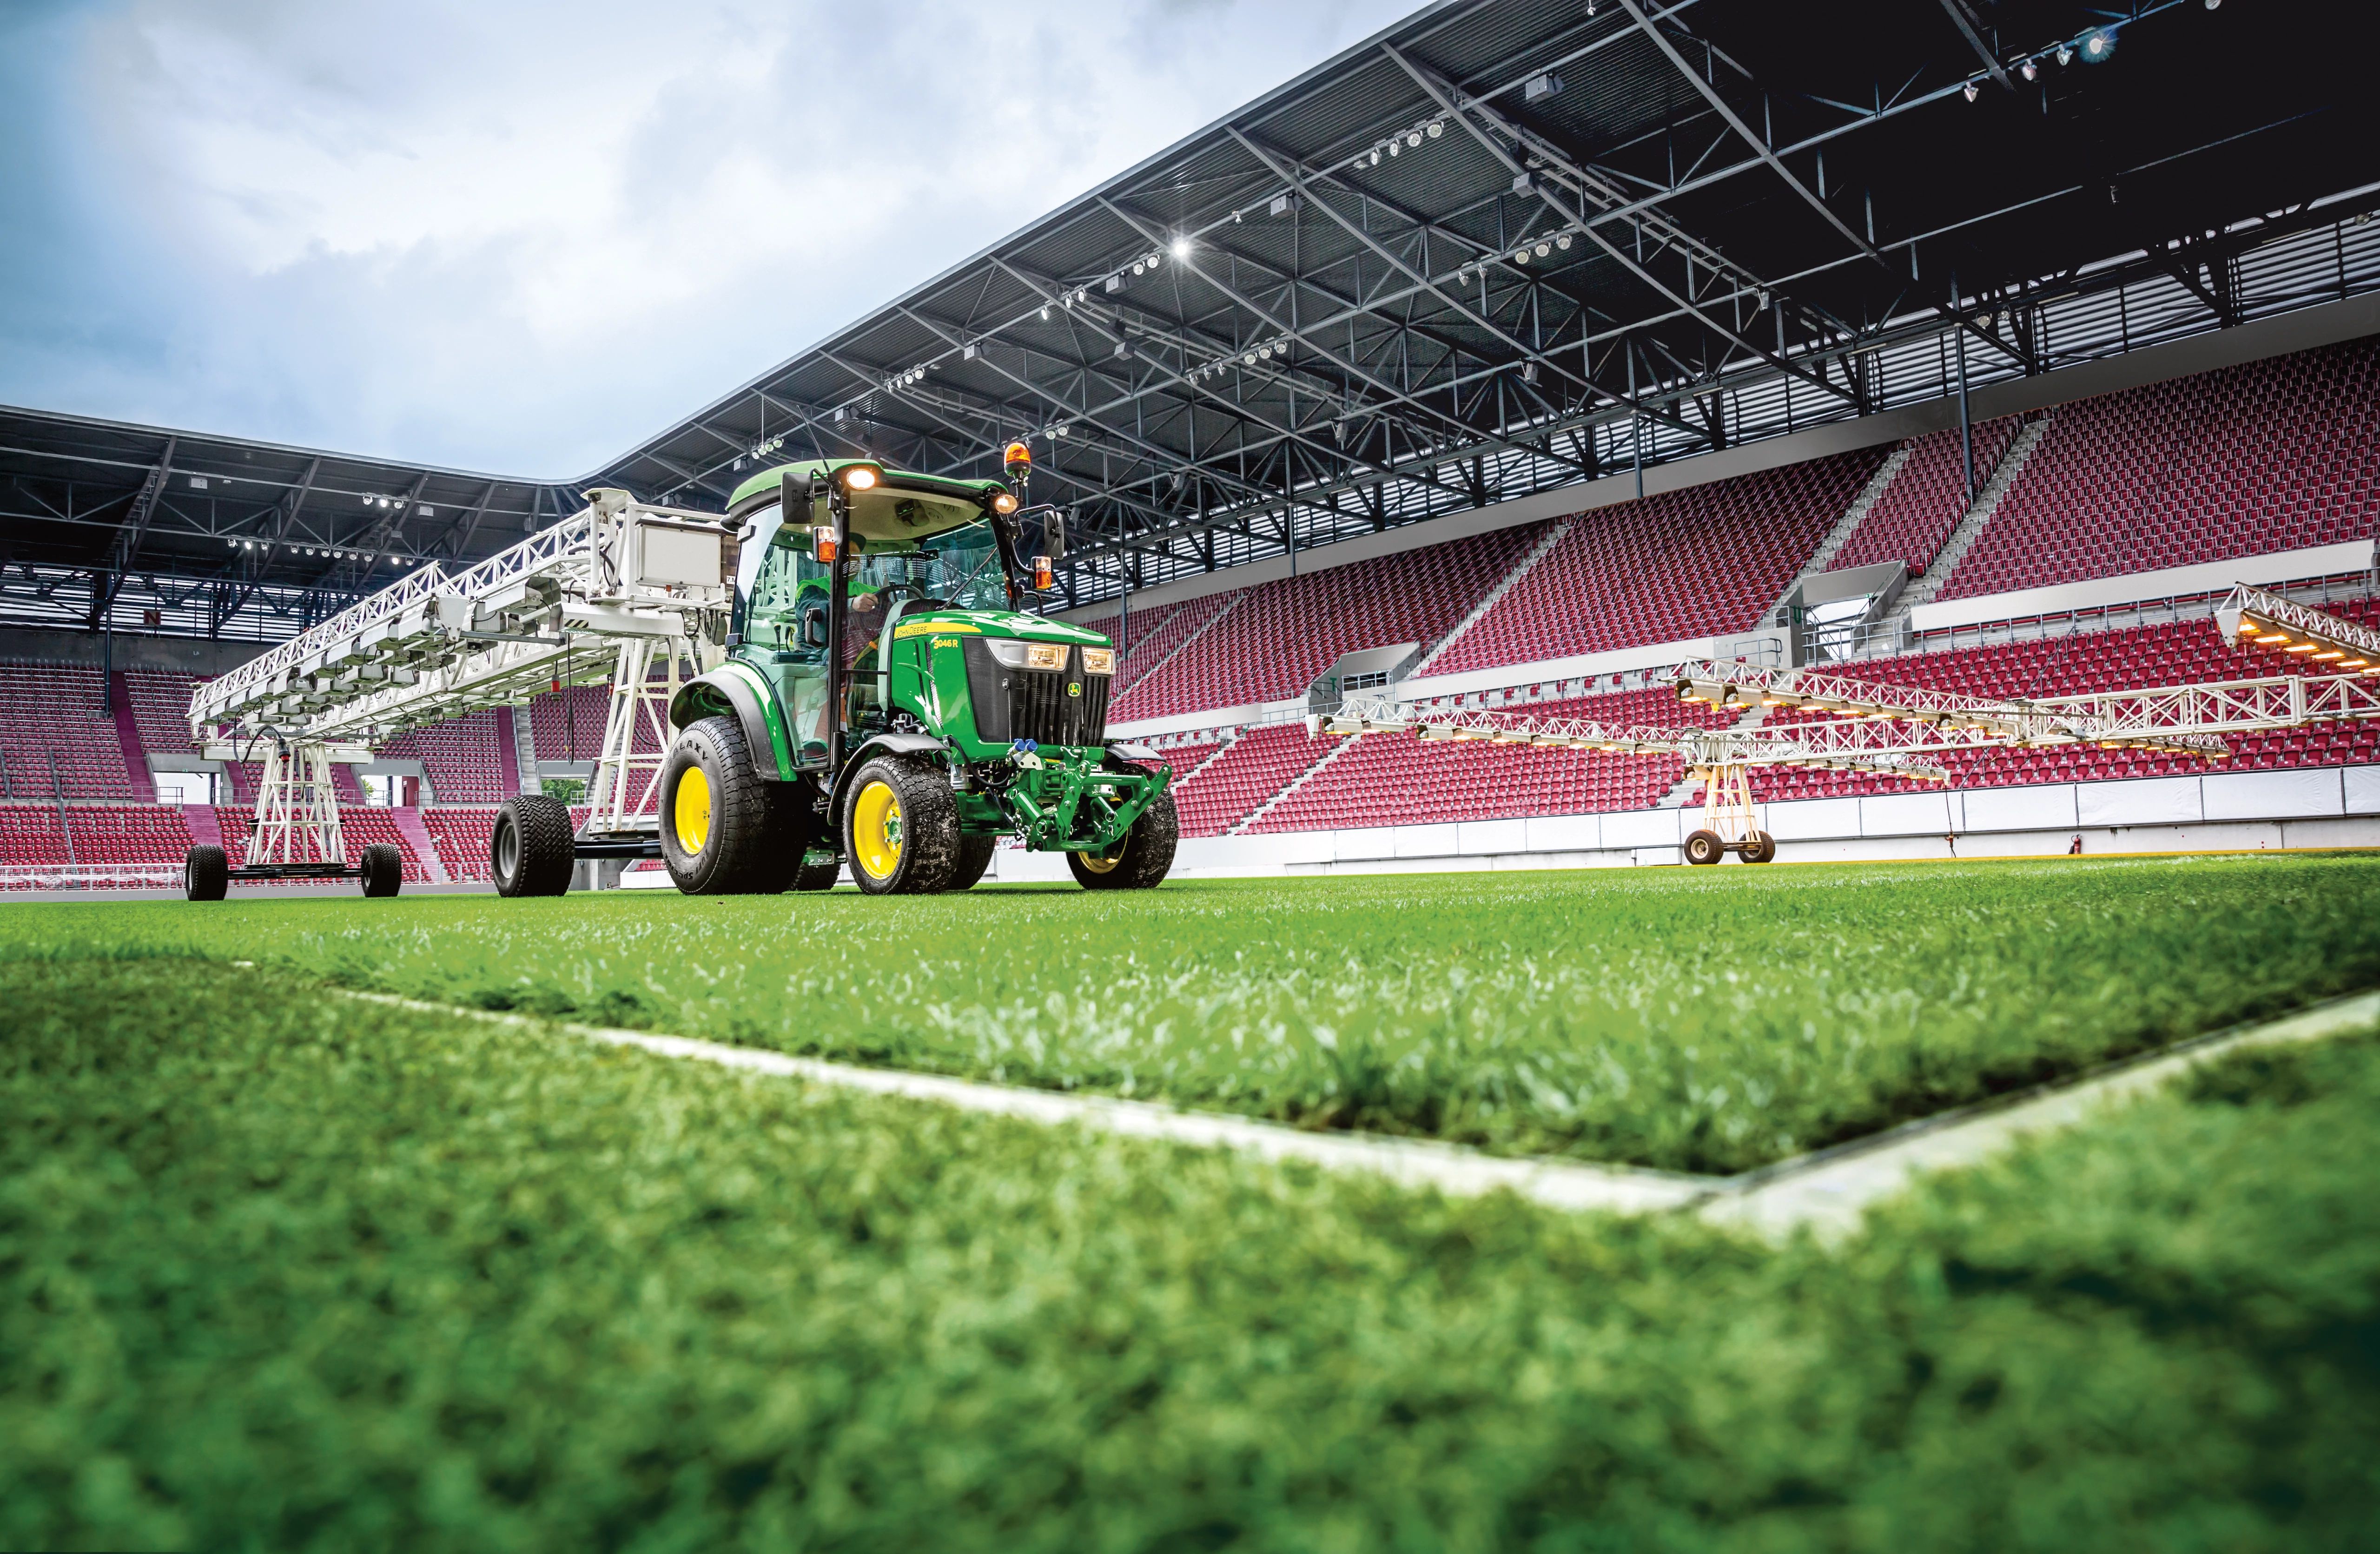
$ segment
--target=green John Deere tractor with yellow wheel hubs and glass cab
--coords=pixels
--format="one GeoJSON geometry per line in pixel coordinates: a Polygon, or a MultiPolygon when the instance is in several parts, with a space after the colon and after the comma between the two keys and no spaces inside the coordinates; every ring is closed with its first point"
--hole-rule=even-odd
{"type": "MultiPolygon", "coordinates": [[[[1009,447],[1016,485],[1031,474],[1009,447]]],[[[1031,614],[1064,524],[1002,481],[869,459],[752,476],[728,505],[726,662],[669,707],[662,859],[693,895],[966,890],[1000,838],[1085,890],[1173,866],[1173,769],[1107,740],[1116,647],[1031,614]]]]}

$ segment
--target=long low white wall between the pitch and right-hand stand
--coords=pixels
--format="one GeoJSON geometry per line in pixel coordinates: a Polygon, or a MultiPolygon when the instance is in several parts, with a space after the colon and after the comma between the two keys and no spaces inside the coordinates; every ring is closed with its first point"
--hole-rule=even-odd
{"type": "MultiPolygon", "coordinates": [[[[1756,812],[1780,859],[1797,864],[2056,857],[2078,838],[2092,857],[2380,847],[2380,766],[1785,800],[1756,812]]],[[[1685,807],[1183,838],[1173,878],[1683,864],[1680,842],[1699,823],[1702,809],[1685,807]]],[[[1002,847],[992,878],[1066,881],[1069,871],[1059,854],[1002,847]]]]}

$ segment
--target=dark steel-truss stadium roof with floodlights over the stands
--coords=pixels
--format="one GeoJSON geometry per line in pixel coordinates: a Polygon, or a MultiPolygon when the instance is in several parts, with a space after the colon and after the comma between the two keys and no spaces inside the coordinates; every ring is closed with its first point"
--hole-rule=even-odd
{"type": "Polygon", "coordinates": [[[752,459],[985,476],[1016,436],[1090,600],[2335,300],[2380,286],[2337,19],[1452,0],[581,481],[7,412],[0,607],[29,559],[321,590],[364,581],[321,547],[476,557],[593,483],[714,507],[752,459]],[[105,450],[71,524],[45,440],[105,450]],[[200,457],[269,474],[198,500],[200,457]]]}

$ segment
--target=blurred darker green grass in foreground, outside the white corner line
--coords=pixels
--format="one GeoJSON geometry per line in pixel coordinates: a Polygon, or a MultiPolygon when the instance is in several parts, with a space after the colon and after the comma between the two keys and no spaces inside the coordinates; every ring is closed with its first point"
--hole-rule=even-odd
{"type": "Polygon", "coordinates": [[[2380,1516],[2373,1038],[1825,1252],[267,969],[19,959],[0,1009],[0,1547],[2278,1552],[2380,1516]]]}

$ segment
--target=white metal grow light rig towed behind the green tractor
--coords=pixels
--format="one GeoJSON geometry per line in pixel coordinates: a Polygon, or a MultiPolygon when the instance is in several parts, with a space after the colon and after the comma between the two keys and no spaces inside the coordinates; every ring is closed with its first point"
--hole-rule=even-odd
{"type": "Polygon", "coordinates": [[[724,657],[735,543],[719,514],[597,488],[512,550],[436,564],[198,685],[190,742],[264,762],[231,878],[352,878],[331,766],[407,728],[609,681],[578,857],[659,857],[669,702],[724,657]],[[638,750],[638,733],[652,747],[638,750]]]}

